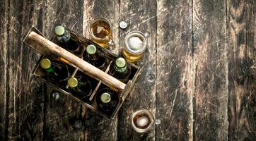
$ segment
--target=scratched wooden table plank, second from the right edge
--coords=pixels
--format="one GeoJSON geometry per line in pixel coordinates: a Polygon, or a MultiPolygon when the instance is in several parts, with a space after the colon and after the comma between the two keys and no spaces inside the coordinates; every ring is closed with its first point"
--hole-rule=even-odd
{"type": "Polygon", "coordinates": [[[194,140],[228,140],[226,1],[193,1],[194,140]]]}

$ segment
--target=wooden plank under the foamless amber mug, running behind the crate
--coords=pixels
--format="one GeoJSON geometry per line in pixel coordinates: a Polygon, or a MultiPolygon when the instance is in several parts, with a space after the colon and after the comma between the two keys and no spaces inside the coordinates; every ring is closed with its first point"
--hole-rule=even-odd
{"type": "MultiPolygon", "coordinates": [[[[94,17],[105,17],[110,20],[113,27],[113,40],[115,47],[110,50],[118,54],[119,49],[119,5],[120,1],[101,1],[88,0],[83,1],[83,35],[90,38],[88,34],[88,22],[94,17]]],[[[117,118],[113,121],[107,121],[102,116],[93,113],[83,107],[83,116],[85,116],[86,124],[83,130],[83,140],[117,140],[117,118]]]]}

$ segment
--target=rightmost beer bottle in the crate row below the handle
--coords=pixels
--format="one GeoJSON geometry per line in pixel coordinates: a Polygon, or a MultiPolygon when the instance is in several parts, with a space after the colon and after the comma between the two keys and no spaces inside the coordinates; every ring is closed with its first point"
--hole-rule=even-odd
{"type": "Polygon", "coordinates": [[[96,96],[96,102],[100,111],[111,114],[118,104],[118,96],[115,91],[103,88],[96,96]]]}

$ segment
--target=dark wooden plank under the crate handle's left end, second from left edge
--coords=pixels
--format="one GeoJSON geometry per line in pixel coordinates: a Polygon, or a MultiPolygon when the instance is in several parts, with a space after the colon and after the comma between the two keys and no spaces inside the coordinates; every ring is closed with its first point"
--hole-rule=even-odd
{"type": "Polygon", "coordinates": [[[8,140],[42,140],[44,94],[42,85],[31,74],[39,54],[22,43],[23,34],[32,24],[42,30],[42,2],[9,2],[8,140]]]}

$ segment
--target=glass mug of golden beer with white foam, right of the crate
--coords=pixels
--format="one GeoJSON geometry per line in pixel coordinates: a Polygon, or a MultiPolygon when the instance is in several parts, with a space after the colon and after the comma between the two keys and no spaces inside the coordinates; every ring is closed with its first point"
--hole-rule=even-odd
{"type": "Polygon", "coordinates": [[[132,31],[125,36],[122,54],[127,61],[136,62],[141,59],[146,51],[147,35],[140,31],[132,31]]]}

